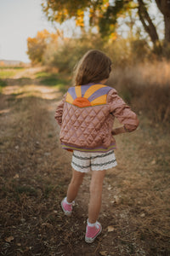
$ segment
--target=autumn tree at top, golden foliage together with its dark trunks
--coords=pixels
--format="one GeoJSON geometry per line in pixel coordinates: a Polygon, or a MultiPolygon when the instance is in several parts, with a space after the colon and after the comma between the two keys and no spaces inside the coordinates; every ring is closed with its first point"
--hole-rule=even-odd
{"type": "MultiPolygon", "coordinates": [[[[107,37],[116,30],[117,18],[129,9],[138,9],[139,20],[144,26],[154,46],[160,44],[156,26],[150,18],[146,3],[148,0],[44,0],[42,10],[48,16],[48,20],[62,23],[65,20],[75,17],[78,26],[84,26],[84,14],[88,13],[90,25],[99,26],[99,32],[107,37]]],[[[156,0],[156,6],[164,17],[165,36],[164,42],[170,44],[170,1],[156,0]]]]}

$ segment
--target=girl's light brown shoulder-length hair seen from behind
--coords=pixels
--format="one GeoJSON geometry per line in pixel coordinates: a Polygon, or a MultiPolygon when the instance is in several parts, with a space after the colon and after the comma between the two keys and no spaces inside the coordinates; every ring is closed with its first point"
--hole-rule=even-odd
{"type": "Polygon", "coordinates": [[[78,62],[73,76],[74,85],[99,83],[108,79],[111,73],[111,59],[98,49],[91,49],[78,62]]]}

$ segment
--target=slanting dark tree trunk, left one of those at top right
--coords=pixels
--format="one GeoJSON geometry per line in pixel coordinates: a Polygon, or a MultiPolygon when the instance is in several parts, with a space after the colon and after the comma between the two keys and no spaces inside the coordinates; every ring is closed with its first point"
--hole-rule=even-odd
{"type": "Polygon", "coordinates": [[[150,15],[147,12],[147,9],[144,5],[143,0],[138,0],[139,3],[139,19],[141,20],[145,32],[147,32],[150,36],[150,39],[154,46],[156,47],[157,42],[159,42],[159,37],[156,32],[156,26],[153,24],[152,20],[150,19],[150,15]]]}

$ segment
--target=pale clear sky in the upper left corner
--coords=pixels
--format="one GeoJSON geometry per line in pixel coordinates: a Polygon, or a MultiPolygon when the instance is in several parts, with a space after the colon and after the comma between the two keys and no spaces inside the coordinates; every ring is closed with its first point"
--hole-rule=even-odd
{"type": "Polygon", "coordinates": [[[29,62],[27,38],[54,27],[42,12],[41,0],[0,0],[0,60],[29,62]]]}

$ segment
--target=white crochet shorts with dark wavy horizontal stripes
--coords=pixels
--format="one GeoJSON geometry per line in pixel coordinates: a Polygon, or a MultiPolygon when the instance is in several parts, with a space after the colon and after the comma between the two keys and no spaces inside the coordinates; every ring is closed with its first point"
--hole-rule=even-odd
{"type": "Polygon", "coordinates": [[[77,172],[103,171],[116,166],[114,151],[105,153],[73,151],[71,166],[77,172]]]}

